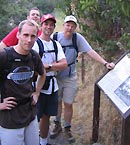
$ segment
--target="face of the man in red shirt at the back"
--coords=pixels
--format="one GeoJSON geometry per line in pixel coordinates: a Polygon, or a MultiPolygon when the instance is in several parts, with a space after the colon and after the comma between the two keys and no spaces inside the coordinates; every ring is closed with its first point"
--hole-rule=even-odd
{"type": "Polygon", "coordinates": [[[27,19],[34,20],[40,24],[40,12],[38,10],[31,10],[27,19]]]}

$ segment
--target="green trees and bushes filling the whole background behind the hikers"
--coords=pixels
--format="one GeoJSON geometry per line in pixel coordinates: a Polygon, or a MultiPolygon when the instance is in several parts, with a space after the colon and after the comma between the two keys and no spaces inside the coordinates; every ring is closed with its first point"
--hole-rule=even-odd
{"type": "Polygon", "coordinates": [[[60,9],[73,14],[81,33],[97,51],[111,53],[130,49],[130,1],[128,0],[4,0],[0,5],[0,39],[37,6],[41,13],[60,9]]]}

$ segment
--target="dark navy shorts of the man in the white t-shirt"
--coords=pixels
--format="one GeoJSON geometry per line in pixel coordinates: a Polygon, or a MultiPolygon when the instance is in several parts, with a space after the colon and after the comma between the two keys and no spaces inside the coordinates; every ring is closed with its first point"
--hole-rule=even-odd
{"type": "Polygon", "coordinates": [[[58,91],[53,94],[40,93],[37,102],[38,120],[43,114],[48,116],[56,116],[58,112],[58,91]]]}

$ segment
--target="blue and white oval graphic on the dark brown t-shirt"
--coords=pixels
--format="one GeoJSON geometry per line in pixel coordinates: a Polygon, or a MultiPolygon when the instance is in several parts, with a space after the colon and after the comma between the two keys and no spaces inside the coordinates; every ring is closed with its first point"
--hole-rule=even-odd
{"type": "Polygon", "coordinates": [[[28,66],[20,66],[15,68],[7,75],[7,79],[12,80],[16,84],[27,83],[34,75],[34,71],[28,66]]]}

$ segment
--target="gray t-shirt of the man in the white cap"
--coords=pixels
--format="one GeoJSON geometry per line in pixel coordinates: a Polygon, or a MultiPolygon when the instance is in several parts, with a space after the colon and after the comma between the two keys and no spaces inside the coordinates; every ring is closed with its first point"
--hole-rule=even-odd
{"type": "MultiPolygon", "coordinates": [[[[76,44],[78,47],[78,52],[89,52],[92,47],[89,45],[87,40],[79,33],[77,34],[76,38],[76,44]]],[[[59,71],[57,78],[68,78],[76,76],[76,57],[77,57],[77,51],[73,47],[72,39],[67,39],[64,37],[64,32],[58,32],[57,35],[57,41],[61,44],[63,47],[63,51],[65,52],[65,56],[68,62],[68,67],[63,70],[59,71]]]]}

